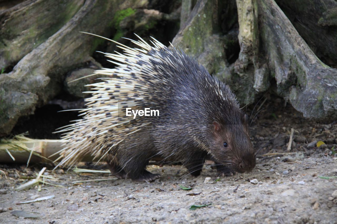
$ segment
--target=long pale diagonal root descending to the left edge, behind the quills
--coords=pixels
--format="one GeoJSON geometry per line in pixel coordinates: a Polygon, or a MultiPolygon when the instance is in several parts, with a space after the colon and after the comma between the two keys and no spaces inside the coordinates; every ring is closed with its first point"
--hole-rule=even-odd
{"type": "MultiPolygon", "coordinates": [[[[24,7],[15,7],[10,14],[17,14],[19,13],[17,11],[22,10],[29,11],[30,7],[35,7],[35,4],[39,2],[44,1],[24,2],[22,3],[25,4],[24,7]]],[[[46,2],[48,3],[48,1],[46,2]]],[[[123,4],[120,3],[121,1],[118,0],[85,1],[76,14],[68,22],[64,20],[65,24],[62,28],[47,40],[41,43],[45,38],[36,37],[40,45],[36,48],[33,47],[34,49],[28,54],[25,52],[26,55],[10,73],[0,74],[0,135],[8,134],[20,116],[32,114],[37,105],[43,105],[56,96],[63,86],[64,74],[67,71],[93,60],[90,55],[97,45],[103,42],[103,39],[82,34],[80,31],[108,36],[110,31],[108,28],[111,26],[116,10],[140,5],[139,3],[138,5],[134,4],[135,2],[131,0],[123,1],[123,4]]],[[[62,13],[62,8],[56,9],[61,10],[56,14],[62,13]]],[[[76,10],[71,10],[71,13],[73,11],[76,10]]],[[[25,20],[25,16],[29,17],[30,14],[23,13],[21,20],[25,20]]],[[[53,19],[53,17],[50,18],[50,20],[53,19]]],[[[30,22],[35,25],[34,20],[30,22]]],[[[43,23],[48,24],[48,21],[43,21],[43,23]]],[[[32,26],[32,24],[30,25],[32,26]]],[[[29,26],[29,22],[25,26],[29,26]]],[[[46,27],[45,29],[37,32],[36,36],[41,36],[43,33],[42,36],[48,37],[48,34],[55,32],[54,28],[48,29],[46,27]]],[[[35,37],[33,31],[28,31],[28,34],[35,37]]],[[[18,38],[22,41],[23,37],[18,38]]],[[[33,41],[29,40],[28,42],[32,43],[33,41]]],[[[32,47],[25,48],[25,51],[28,51],[27,49],[32,49],[32,47]]],[[[22,54],[20,55],[22,56],[22,54]]],[[[16,55],[14,59],[10,60],[18,58],[20,57],[16,55]]]]}

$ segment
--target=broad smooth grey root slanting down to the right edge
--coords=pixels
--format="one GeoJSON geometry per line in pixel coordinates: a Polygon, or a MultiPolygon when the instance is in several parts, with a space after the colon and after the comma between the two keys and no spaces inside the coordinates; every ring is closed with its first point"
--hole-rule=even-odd
{"type": "Polygon", "coordinates": [[[310,119],[337,119],[337,70],[322,63],[274,0],[258,0],[259,31],[277,93],[310,119]]]}

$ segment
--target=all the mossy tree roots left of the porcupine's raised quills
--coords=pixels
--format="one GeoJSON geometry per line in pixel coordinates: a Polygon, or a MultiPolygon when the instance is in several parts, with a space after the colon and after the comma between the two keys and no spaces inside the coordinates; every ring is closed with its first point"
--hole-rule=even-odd
{"type": "MultiPolygon", "coordinates": [[[[0,74],[0,136],[10,133],[19,117],[32,114],[36,106],[58,95],[67,72],[97,65],[91,55],[104,39],[80,31],[123,35],[121,20],[136,14],[134,8],[144,4],[141,0],[68,0],[62,4],[29,0],[1,11],[0,66],[8,69],[20,61],[12,71],[0,74]]],[[[153,14],[139,16],[157,20],[165,16],[153,14]]]]}

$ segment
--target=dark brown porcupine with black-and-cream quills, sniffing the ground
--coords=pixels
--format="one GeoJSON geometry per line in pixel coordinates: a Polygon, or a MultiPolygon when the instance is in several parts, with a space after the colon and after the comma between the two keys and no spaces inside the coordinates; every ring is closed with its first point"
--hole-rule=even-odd
{"type": "Polygon", "coordinates": [[[152,181],[159,175],[146,165],[160,155],[182,161],[193,176],[205,159],[215,162],[219,175],[251,171],[255,150],[247,117],[229,87],[181,49],[137,37],[130,41],[140,48],[111,40],[124,52],[104,53],[117,67],[94,72],[110,77],[89,85],[83,118],[60,131],[68,141],[57,166],[71,167],[90,154],[105,158],[118,178],[152,181]],[[132,119],[126,108],[160,114],[132,119]]]}

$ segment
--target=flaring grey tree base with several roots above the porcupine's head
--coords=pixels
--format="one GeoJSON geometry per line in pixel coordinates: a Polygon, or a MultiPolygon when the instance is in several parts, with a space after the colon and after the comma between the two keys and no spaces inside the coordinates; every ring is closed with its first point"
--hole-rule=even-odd
{"type": "MultiPolygon", "coordinates": [[[[329,2],[330,5],[336,4],[331,0],[324,1],[329,2]]],[[[292,6],[294,11],[300,14],[301,8],[297,5],[293,6],[294,2],[281,0],[279,2],[292,6]]],[[[318,3],[312,2],[306,5],[310,10],[302,12],[303,20],[315,12],[314,9],[318,3]]],[[[221,77],[236,92],[241,103],[253,102],[255,94],[269,89],[272,79],[275,79],[277,94],[288,100],[305,117],[321,120],[336,119],[337,71],[317,58],[273,0],[237,0],[236,3],[240,54],[234,64],[228,64],[224,57],[225,51],[222,46],[226,45],[226,36],[221,35],[217,29],[216,11],[219,7],[225,6],[219,5],[215,0],[199,0],[196,3],[185,26],[173,40],[173,44],[191,53],[210,72],[221,77]],[[215,64],[217,66],[214,66],[215,64]]],[[[319,3],[318,6],[320,4],[324,3],[319,3]]],[[[298,5],[301,4],[298,2],[298,5]]],[[[320,10],[316,11],[322,14],[326,11],[326,9],[320,10]]],[[[326,19],[321,19],[320,22],[333,21],[332,11],[328,11],[329,15],[324,14],[326,19]]],[[[322,15],[318,13],[315,16],[322,15]]],[[[311,20],[315,20],[315,17],[311,20]]],[[[307,23],[310,23],[310,20],[308,21],[307,23]]],[[[317,28],[320,26],[317,22],[318,19],[316,23],[312,22],[310,26],[302,28],[303,34],[309,38],[316,30],[324,30],[325,28],[322,27],[317,28]],[[307,32],[308,30],[310,32],[307,32]]],[[[331,23],[333,22],[329,22],[331,23]]],[[[327,37],[333,46],[336,42],[334,32],[337,32],[336,29],[330,31],[331,36],[327,30],[323,33],[323,37],[327,37]]],[[[310,40],[319,42],[319,32],[314,36],[315,38],[312,37],[310,40]]],[[[334,54],[337,51],[334,47],[327,50],[330,47],[329,44],[323,41],[319,44],[322,45],[321,52],[329,54],[330,51],[334,51],[331,52],[330,57],[335,57],[334,54]]]]}

